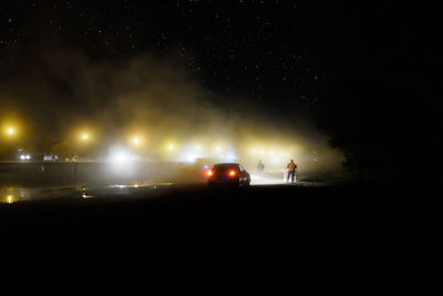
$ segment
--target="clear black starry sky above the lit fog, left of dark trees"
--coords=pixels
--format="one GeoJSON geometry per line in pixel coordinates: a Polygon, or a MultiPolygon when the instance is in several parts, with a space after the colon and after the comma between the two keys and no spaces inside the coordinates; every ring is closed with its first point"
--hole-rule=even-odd
{"type": "Polygon", "coordinates": [[[94,60],[169,52],[222,94],[215,103],[241,94],[300,114],[340,67],[340,13],[326,1],[1,1],[0,67],[8,75],[25,69],[42,42],[94,60]]]}

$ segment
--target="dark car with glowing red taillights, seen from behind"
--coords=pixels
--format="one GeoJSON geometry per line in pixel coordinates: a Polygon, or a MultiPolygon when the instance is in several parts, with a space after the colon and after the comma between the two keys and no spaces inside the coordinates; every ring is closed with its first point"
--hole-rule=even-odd
{"type": "Polygon", "coordinates": [[[217,163],[207,171],[208,185],[249,186],[250,175],[238,163],[217,163]]]}

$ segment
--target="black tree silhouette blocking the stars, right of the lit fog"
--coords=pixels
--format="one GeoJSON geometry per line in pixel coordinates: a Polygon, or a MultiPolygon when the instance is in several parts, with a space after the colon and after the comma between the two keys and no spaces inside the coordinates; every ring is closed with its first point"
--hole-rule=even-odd
{"type": "Polygon", "coordinates": [[[442,58],[429,39],[436,19],[412,7],[347,4],[334,30],[341,67],[319,90],[318,126],[361,178],[368,170],[394,170],[400,177],[436,171],[443,112],[435,70],[442,58]]]}

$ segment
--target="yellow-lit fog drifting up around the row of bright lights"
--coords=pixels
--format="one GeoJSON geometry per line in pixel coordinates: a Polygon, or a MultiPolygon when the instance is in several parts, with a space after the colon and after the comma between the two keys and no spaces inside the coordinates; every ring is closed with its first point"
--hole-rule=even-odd
{"type": "Polygon", "coordinates": [[[262,160],[267,170],[282,170],[293,159],[300,170],[340,169],[341,154],[309,119],[217,93],[203,76],[174,51],[92,60],[60,44],[31,50],[0,83],[2,126],[18,130],[0,145],[62,157],[125,147],[148,160],[213,157],[250,169],[262,160]]]}

